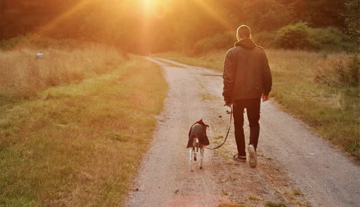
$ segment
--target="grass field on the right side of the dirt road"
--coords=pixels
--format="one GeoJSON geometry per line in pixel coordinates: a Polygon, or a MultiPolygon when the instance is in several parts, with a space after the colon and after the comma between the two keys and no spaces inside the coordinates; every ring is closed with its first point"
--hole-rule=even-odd
{"type": "MultiPolygon", "coordinates": [[[[189,57],[168,52],[154,56],[222,72],[225,53],[189,57]]],[[[267,50],[267,56],[273,74],[271,97],[321,137],[360,160],[360,86],[338,81],[339,68],[346,67],[344,62],[351,58],[345,54],[291,50],[267,50]]],[[[353,76],[359,76],[359,61],[354,64],[353,76]]]]}

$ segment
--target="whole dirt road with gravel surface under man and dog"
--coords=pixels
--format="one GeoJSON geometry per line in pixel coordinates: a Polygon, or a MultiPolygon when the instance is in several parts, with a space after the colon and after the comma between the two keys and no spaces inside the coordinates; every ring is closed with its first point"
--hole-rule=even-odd
{"type": "MultiPolygon", "coordinates": [[[[208,76],[219,75],[212,70],[147,59],[163,66],[170,91],[126,206],[360,205],[360,167],[271,101],[261,106],[257,168],[231,159],[232,129],[222,148],[205,150],[204,169],[197,161],[190,172],[186,144],[193,122],[210,125],[212,146],[224,140],[229,117],[222,78],[208,76]]],[[[249,137],[247,123],[245,132],[249,137]]]]}

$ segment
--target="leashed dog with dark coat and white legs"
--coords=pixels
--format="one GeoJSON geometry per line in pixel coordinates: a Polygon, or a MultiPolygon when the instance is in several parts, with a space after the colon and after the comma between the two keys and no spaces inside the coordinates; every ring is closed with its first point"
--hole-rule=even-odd
{"type": "Polygon", "coordinates": [[[204,146],[208,146],[209,139],[206,135],[206,128],[209,126],[200,119],[195,122],[190,128],[189,131],[189,140],[187,148],[190,148],[190,171],[192,172],[192,155],[194,155],[194,160],[197,161],[197,153],[200,148],[200,169],[202,169],[202,160],[204,159],[204,146]],[[195,150],[196,149],[196,150],[195,150]]]}

